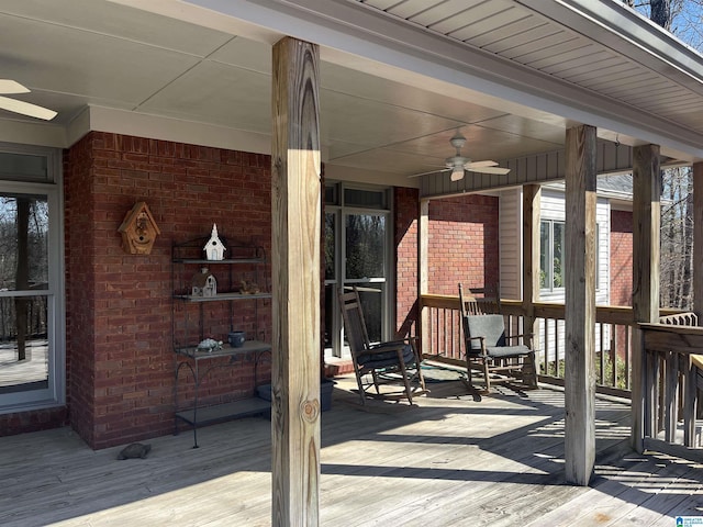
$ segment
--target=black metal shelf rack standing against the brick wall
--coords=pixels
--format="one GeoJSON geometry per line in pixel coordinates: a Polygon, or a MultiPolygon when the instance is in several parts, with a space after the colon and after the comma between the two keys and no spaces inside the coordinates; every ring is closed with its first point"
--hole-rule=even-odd
{"type": "Polygon", "coordinates": [[[174,245],[171,258],[176,354],[174,427],[178,433],[179,422],[192,426],[193,448],[198,447],[199,426],[250,415],[270,415],[270,402],[255,396],[258,365],[271,350],[270,344],[266,343],[266,335],[258,327],[259,304],[271,298],[266,276],[266,254],[263,247],[257,245],[225,244],[225,254],[231,257],[209,260],[201,257],[207,240],[208,238],[198,238],[174,245]],[[208,274],[215,279],[214,293],[209,291],[209,294],[196,294],[199,291],[192,287],[197,281],[194,277],[203,267],[208,268],[208,274]],[[256,283],[256,292],[241,290],[242,281],[256,283]],[[213,309],[208,309],[205,316],[204,306],[209,304],[212,304],[213,309]],[[250,339],[245,340],[241,347],[232,347],[227,344],[227,332],[242,329],[243,310],[237,309],[242,305],[249,306],[246,311],[246,322],[250,325],[247,328],[250,339]],[[223,345],[213,350],[199,348],[198,345],[205,338],[222,341],[223,345]],[[221,404],[202,404],[203,383],[210,380],[215,370],[225,367],[236,368],[249,359],[254,361],[254,385],[248,397],[221,404]],[[188,401],[181,395],[185,388],[180,379],[181,370],[190,371],[194,382],[193,396],[188,401]]]}

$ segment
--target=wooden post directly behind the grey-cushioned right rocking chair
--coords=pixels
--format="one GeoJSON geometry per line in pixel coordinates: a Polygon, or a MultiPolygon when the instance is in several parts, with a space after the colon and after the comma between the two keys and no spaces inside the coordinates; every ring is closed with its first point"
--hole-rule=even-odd
{"type": "Polygon", "coordinates": [[[534,333],[533,345],[536,348],[535,302],[539,300],[539,206],[542,187],[523,187],[523,312],[525,313],[524,333],[534,333]]]}

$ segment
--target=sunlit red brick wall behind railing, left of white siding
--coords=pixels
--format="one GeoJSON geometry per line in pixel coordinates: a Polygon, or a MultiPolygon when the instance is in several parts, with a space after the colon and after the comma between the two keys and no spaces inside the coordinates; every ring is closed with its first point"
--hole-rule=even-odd
{"type": "Polygon", "coordinates": [[[429,292],[498,283],[498,198],[471,194],[429,202],[429,292]]]}

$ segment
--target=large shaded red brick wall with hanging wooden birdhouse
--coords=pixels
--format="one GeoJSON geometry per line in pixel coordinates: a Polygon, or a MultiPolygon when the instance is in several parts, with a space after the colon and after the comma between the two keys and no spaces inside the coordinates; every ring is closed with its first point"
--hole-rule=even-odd
{"type": "MultiPolygon", "coordinates": [[[[270,254],[270,158],[97,132],[66,157],[72,426],[93,448],[170,433],[171,244],[209,236],[216,223],[228,243],[253,239],[270,254]],[[118,227],[137,201],[148,204],[161,231],[150,255],[121,248],[118,227]]],[[[208,313],[205,319],[220,316],[208,313]]],[[[270,339],[270,302],[259,314],[270,339]]],[[[250,310],[237,316],[244,329],[253,327],[250,310]]],[[[223,322],[211,328],[222,338],[225,329],[223,322]]],[[[270,361],[258,373],[259,383],[268,380],[270,361]]],[[[248,395],[253,377],[252,361],[219,369],[201,395],[212,402],[248,395]]]]}

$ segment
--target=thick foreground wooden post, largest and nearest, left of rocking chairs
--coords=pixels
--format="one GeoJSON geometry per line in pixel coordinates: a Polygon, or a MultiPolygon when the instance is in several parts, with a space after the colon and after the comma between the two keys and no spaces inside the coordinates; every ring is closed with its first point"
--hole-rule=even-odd
{"type": "Polygon", "coordinates": [[[320,51],[284,37],[272,72],[274,526],[319,525],[320,51]]]}

